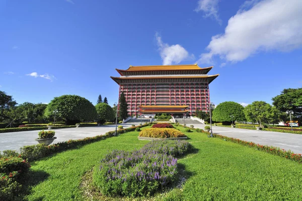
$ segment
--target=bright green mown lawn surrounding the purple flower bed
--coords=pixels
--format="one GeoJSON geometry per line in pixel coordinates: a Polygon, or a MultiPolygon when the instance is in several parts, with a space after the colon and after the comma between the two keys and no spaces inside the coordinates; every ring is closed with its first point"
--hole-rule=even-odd
{"type": "MultiPolygon", "coordinates": [[[[146,127],[149,128],[149,127],[146,127]]],[[[184,129],[179,127],[181,131],[184,129]]],[[[203,133],[186,133],[197,153],[178,160],[186,181],[153,199],[301,200],[302,164],[203,133]]],[[[29,200],[83,200],[81,178],[113,149],[132,150],[139,141],[130,132],[58,153],[32,164],[29,200]]],[[[152,198],[151,198],[152,199],[152,198]]]]}

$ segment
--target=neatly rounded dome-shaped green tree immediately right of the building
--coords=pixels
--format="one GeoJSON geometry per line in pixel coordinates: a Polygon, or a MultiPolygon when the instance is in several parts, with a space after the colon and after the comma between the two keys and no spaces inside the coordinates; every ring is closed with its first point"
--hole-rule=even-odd
{"type": "Polygon", "coordinates": [[[215,122],[222,122],[224,124],[232,123],[233,121],[245,121],[244,107],[238,103],[229,101],[219,104],[213,110],[212,120],[215,122]]]}

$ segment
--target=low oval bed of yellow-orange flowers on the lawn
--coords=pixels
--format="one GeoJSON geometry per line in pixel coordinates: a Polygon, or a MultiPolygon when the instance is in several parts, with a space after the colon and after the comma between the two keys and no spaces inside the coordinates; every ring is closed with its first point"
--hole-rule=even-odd
{"type": "Polygon", "coordinates": [[[186,137],[185,134],[176,129],[170,128],[151,128],[140,131],[139,137],[149,138],[180,138],[186,137]]]}

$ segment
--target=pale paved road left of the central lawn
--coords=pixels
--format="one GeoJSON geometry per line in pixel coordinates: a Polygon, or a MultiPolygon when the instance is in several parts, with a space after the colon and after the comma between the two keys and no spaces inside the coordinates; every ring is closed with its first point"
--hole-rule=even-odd
{"type": "MultiPolygon", "coordinates": [[[[132,124],[119,124],[124,128],[131,127],[132,124]]],[[[108,131],[114,131],[115,125],[96,126],[96,127],[79,127],[79,128],[66,128],[66,129],[55,129],[56,140],[53,143],[67,141],[70,139],[83,139],[86,137],[93,137],[97,135],[104,135],[108,131]]],[[[35,141],[38,138],[39,131],[20,131],[11,133],[0,133],[0,151],[7,149],[19,150],[20,147],[25,145],[34,145],[38,142],[35,141]]]]}

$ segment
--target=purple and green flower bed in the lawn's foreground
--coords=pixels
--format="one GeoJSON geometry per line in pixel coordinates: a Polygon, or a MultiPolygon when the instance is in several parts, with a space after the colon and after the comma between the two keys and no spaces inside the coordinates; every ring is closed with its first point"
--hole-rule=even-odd
{"type": "Polygon", "coordinates": [[[190,151],[184,141],[153,141],[140,150],[114,150],[94,169],[93,181],[109,196],[152,195],[176,180],[177,158],[190,151]]]}

